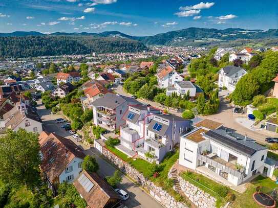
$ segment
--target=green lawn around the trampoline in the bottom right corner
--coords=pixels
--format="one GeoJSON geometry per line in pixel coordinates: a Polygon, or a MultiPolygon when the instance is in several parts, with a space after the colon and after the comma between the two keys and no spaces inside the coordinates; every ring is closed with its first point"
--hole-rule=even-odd
{"type": "Polygon", "coordinates": [[[255,188],[258,186],[263,187],[263,192],[269,193],[273,189],[278,188],[278,185],[271,180],[270,178],[265,178],[263,176],[258,176],[254,180],[251,181],[250,187],[243,194],[239,194],[236,197],[236,200],[232,203],[232,207],[234,208],[260,208],[259,204],[257,204],[253,200],[253,193],[255,192],[255,188]]]}

